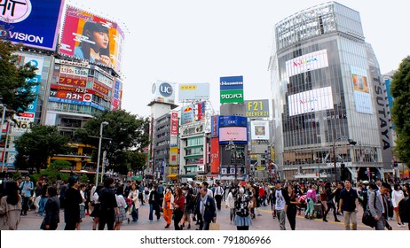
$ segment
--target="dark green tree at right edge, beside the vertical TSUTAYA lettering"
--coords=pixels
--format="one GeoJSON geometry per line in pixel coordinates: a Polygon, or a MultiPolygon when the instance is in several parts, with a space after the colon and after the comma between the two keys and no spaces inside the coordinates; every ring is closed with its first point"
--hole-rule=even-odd
{"type": "Polygon", "coordinates": [[[394,98],[391,110],[393,123],[396,126],[395,155],[401,162],[410,165],[410,56],[404,58],[393,74],[390,94],[394,98]]]}

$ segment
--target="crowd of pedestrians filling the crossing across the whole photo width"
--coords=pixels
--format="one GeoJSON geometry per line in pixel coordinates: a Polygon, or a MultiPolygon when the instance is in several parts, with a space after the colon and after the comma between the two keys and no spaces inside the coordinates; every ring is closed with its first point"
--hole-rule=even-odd
{"type": "MultiPolygon", "coordinates": [[[[260,215],[258,208],[270,205],[272,218],[281,230],[296,229],[296,216],[308,220],[321,218],[327,222],[329,213],[335,222],[342,217],[346,230],[357,229],[359,207],[369,209],[375,218],[375,229],[392,229],[388,220],[398,228],[410,222],[410,189],[398,183],[359,182],[356,188],[350,180],[343,182],[191,182],[163,185],[162,182],[114,181],[80,183],[75,175],[55,184],[45,180],[35,184],[26,176],[20,182],[3,184],[0,216],[2,229],[18,229],[20,216],[27,215],[35,205],[37,216],[43,218],[40,229],[55,230],[64,211],[65,230],[80,230],[83,218],[93,219],[92,229],[120,230],[122,223],[138,222],[140,205],[149,205],[147,221],[164,221],[164,229],[215,229],[217,213],[222,204],[229,209],[229,221],[238,230],[248,230],[260,215]],[[35,186],[34,186],[35,185],[35,186]],[[35,198],[35,199],[33,199],[35,198]],[[173,225],[172,225],[173,222],[173,225]]],[[[410,226],[409,226],[410,229],[410,226]]]]}

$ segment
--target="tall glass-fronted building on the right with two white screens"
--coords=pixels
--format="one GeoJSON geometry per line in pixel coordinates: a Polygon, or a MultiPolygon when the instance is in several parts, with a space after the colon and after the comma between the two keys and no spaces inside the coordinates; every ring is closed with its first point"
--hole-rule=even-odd
{"type": "Polygon", "coordinates": [[[359,12],[320,4],[281,20],[274,35],[275,162],[283,176],[383,178],[392,159],[390,111],[359,12]]]}

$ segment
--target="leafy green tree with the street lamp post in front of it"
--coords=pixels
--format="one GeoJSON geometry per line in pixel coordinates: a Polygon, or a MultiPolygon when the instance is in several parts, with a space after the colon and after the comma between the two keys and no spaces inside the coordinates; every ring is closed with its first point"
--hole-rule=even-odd
{"type": "MultiPolygon", "coordinates": [[[[126,172],[130,169],[127,166],[130,165],[130,158],[124,152],[133,150],[141,153],[148,145],[149,119],[125,110],[100,112],[96,114],[95,119],[89,120],[83,129],[78,129],[75,137],[82,143],[98,148],[100,125],[104,121],[108,122],[108,125],[103,129],[101,154],[106,151],[106,159],[109,161],[106,169],[113,168],[115,172],[126,172]]],[[[97,160],[97,156],[92,158],[97,160]]]]}

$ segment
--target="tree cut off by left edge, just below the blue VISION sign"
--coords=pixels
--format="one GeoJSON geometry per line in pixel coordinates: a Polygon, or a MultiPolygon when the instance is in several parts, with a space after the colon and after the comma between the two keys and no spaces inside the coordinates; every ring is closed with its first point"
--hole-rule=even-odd
{"type": "Polygon", "coordinates": [[[28,109],[37,96],[31,89],[40,83],[28,80],[35,77],[37,67],[21,63],[16,55],[21,47],[0,38],[0,103],[12,112],[28,109]]]}

